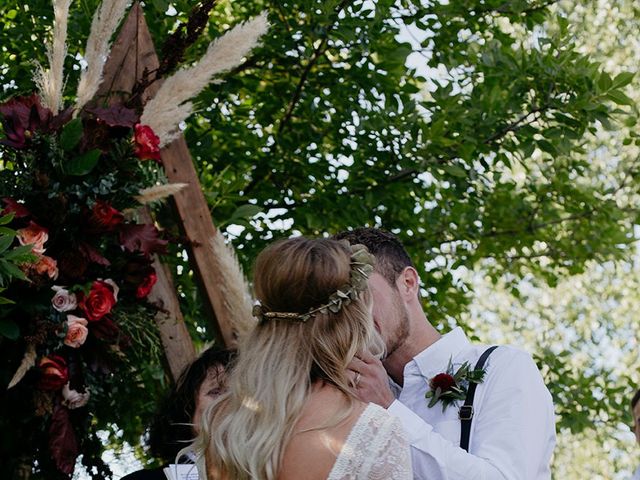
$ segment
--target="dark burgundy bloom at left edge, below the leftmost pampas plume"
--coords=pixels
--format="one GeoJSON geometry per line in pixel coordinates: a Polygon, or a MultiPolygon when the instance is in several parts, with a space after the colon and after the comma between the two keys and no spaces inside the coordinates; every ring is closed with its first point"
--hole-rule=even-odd
{"type": "Polygon", "coordinates": [[[16,97],[0,105],[2,126],[7,136],[0,143],[23,148],[37,130],[47,129],[53,114],[40,104],[38,95],[16,97]]]}

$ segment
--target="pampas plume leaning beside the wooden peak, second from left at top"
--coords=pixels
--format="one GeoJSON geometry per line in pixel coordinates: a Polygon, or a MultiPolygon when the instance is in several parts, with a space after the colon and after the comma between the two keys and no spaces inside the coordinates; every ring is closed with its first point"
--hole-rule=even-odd
{"type": "Polygon", "coordinates": [[[102,82],[104,64],[109,56],[111,37],[122,21],[129,0],[104,0],[91,22],[84,59],[87,68],[80,74],[75,112],[79,112],[96,94],[102,82]]]}

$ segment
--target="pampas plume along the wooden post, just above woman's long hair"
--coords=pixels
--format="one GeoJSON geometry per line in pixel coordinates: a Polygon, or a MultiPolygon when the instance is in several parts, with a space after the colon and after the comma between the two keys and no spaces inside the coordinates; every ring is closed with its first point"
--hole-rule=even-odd
{"type": "Polygon", "coordinates": [[[256,326],[253,317],[253,301],[249,285],[233,248],[226,244],[221,233],[216,232],[211,239],[213,258],[218,264],[220,291],[224,298],[225,317],[229,318],[234,334],[245,336],[256,326]]]}

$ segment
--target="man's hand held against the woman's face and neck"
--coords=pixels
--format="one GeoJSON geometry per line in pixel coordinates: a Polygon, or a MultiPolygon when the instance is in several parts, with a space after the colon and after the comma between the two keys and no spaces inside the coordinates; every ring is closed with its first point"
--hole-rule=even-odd
{"type": "Polygon", "coordinates": [[[388,408],[395,397],[389,388],[387,371],[382,362],[369,352],[362,352],[347,366],[351,370],[354,391],[363,402],[371,402],[388,408]]]}

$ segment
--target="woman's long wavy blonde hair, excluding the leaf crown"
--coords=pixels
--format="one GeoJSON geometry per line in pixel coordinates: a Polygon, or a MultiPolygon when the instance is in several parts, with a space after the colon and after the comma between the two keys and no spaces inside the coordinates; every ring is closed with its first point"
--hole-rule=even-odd
{"type": "MultiPolygon", "coordinates": [[[[256,261],[256,298],[265,311],[304,314],[349,283],[350,258],[349,246],[332,239],[276,242],[256,261]]],[[[263,318],[238,346],[228,391],[203,416],[197,449],[207,478],[275,479],[311,385],[330,383],[352,404],[347,365],[359,351],[383,348],[368,288],[306,322],[263,318]]]]}

